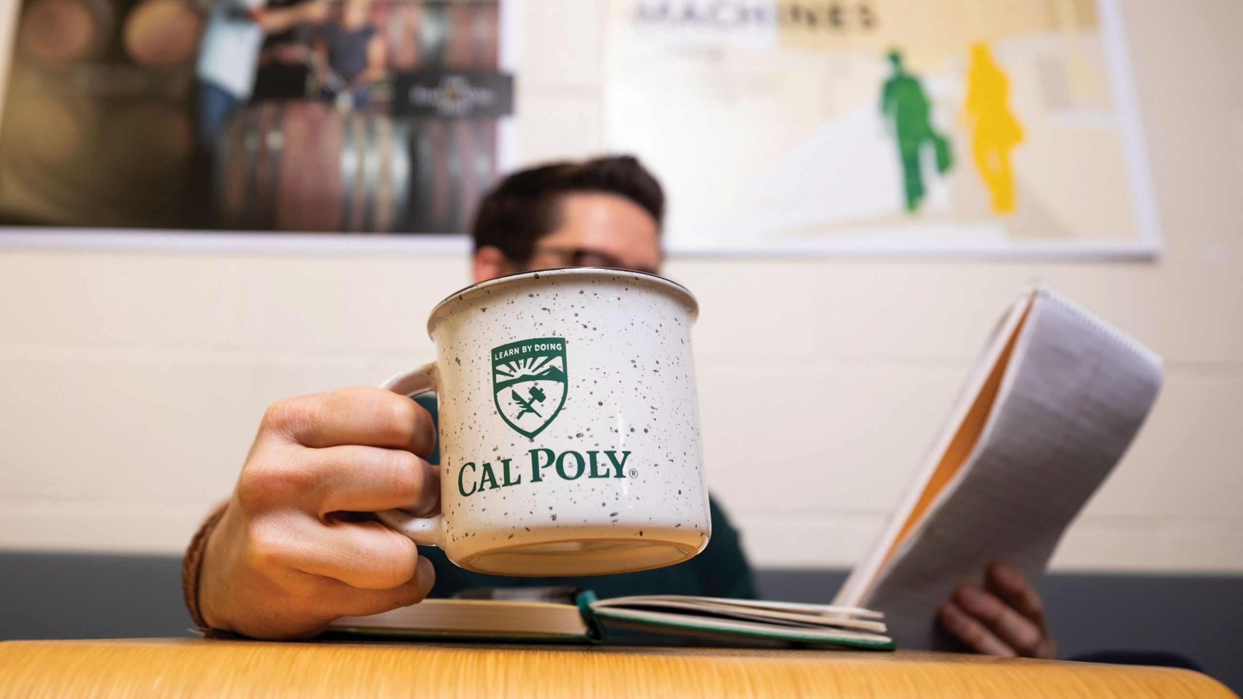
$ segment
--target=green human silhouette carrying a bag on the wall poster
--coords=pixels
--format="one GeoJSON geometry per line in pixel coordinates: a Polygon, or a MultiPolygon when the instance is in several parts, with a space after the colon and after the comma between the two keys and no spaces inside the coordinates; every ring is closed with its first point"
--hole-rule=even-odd
{"type": "Polygon", "coordinates": [[[906,210],[914,211],[924,200],[924,173],[920,169],[920,153],[925,146],[932,146],[936,154],[937,172],[945,174],[952,165],[950,141],[932,128],[929,112],[929,100],[924,86],[914,75],[902,67],[902,55],[889,52],[894,63],[894,75],[885,81],[881,93],[880,111],[892,127],[897,141],[897,154],[902,162],[902,180],[906,193],[906,210]]]}

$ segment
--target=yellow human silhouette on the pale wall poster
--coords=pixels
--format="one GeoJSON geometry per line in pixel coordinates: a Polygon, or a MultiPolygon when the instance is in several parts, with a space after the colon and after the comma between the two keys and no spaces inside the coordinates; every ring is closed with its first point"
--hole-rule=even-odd
{"type": "Polygon", "coordinates": [[[1011,149],[1023,142],[1023,127],[1009,108],[1009,78],[993,61],[988,45],[971,47],[963,118],[971,129],[971,150],[979,177],[993,198],[993,211],[1014,210],[1011,149]]]}

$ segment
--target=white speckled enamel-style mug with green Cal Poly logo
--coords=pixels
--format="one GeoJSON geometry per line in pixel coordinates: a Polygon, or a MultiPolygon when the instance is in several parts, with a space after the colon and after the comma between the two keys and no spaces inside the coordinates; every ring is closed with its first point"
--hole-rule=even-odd
{"type": "Polygon", "coordinates": [[[618,573],[685,561],[711,534],[686,289],[626,270],[476,284],[428,320],[441,514],[380,519],[495,575],[618,573]]]}

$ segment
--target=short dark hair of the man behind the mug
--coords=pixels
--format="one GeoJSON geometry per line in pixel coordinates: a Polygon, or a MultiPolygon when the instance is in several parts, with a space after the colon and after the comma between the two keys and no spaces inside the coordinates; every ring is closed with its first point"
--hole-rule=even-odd
{"type": "Polygon", "coordinates": [[[534,252],[536,243],[559,224],[561,199],[577,192],[617,194],[651,214],[660,230],[665,193],[631,155],[583,163],[551,163],[516,172],[501,180],[479,205],[471,235],[475,249],[498,248],[512,261],[534,252]]]}

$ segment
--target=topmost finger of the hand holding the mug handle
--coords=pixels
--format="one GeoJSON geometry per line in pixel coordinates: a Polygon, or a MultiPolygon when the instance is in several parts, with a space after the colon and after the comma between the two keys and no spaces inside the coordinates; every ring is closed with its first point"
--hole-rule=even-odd
{"type": "Polygon", "coordinates": [[[317,449],[359,444],[428,458],[436,445],[431,415],[413,398],[383,388],[341,388],[277,400],[264,415],[264,425],[317,449]]]}

